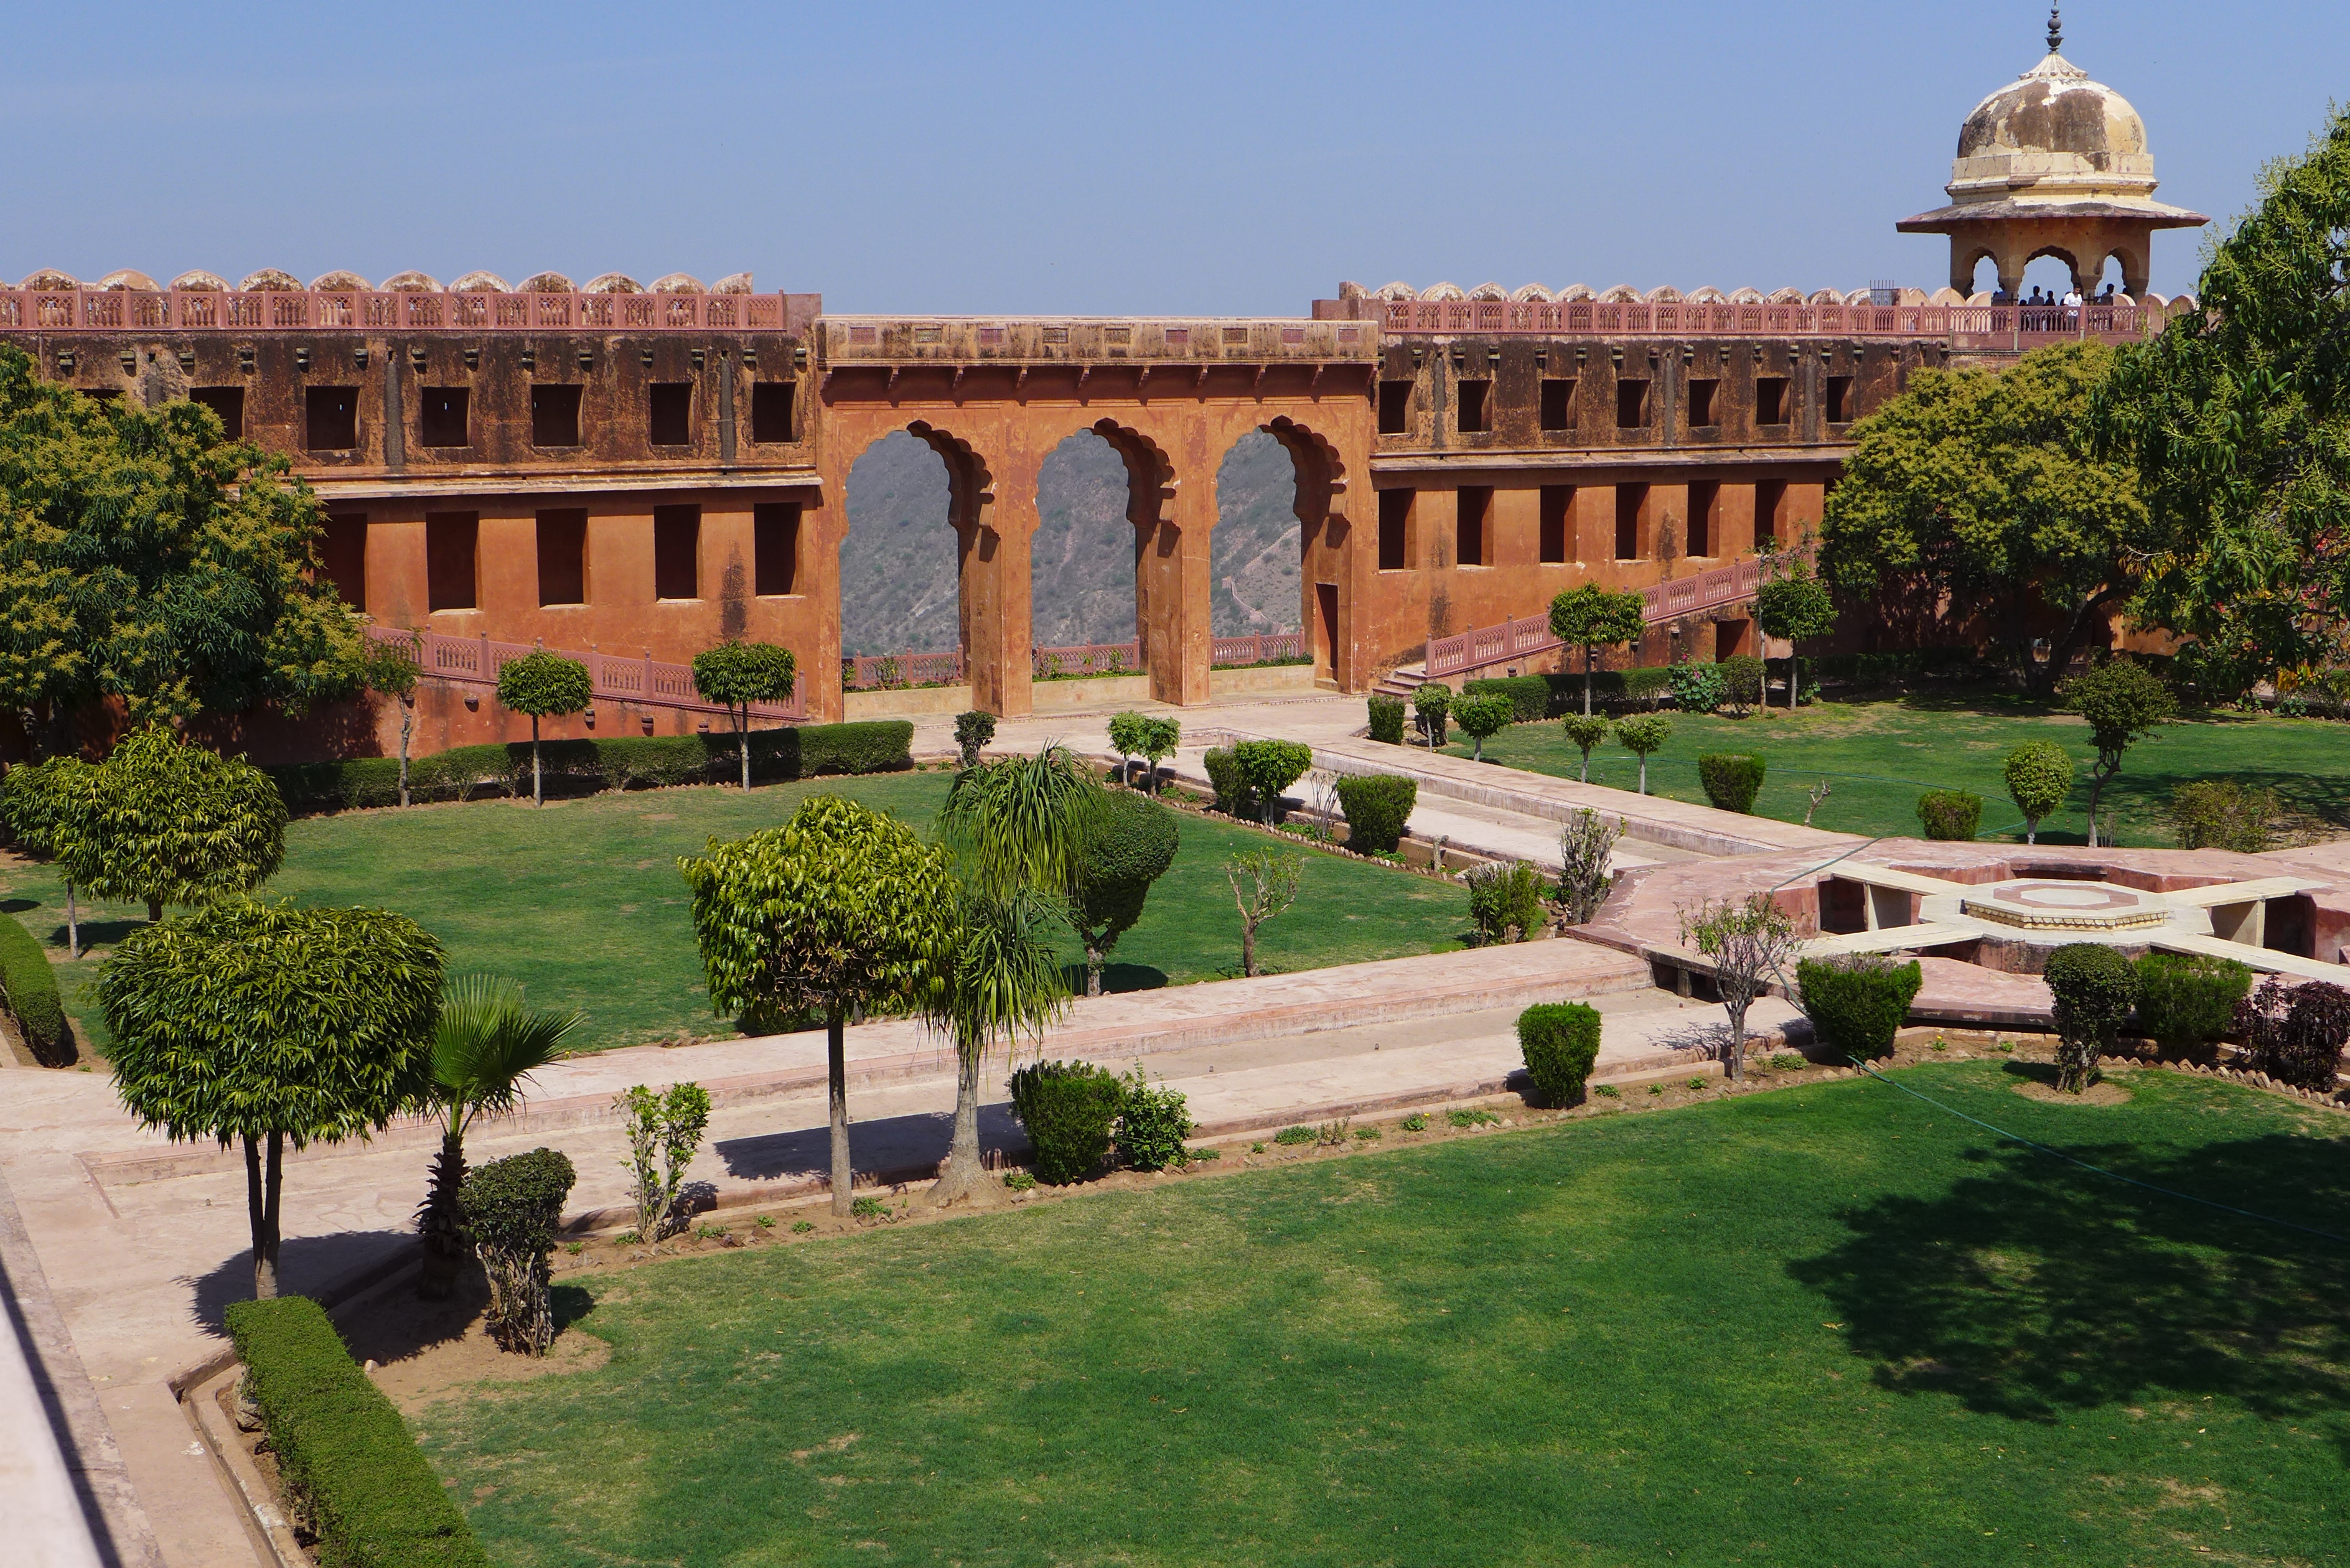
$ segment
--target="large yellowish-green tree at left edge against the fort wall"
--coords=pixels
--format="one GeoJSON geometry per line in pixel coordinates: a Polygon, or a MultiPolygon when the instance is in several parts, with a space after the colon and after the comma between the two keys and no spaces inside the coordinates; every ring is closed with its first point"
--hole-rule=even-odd
{"type": "Polygon", "coordinates": [[[0,708],[35,748],[115,698],[134,724],[360,693],[360,621],[287,461],[195,402],[96,404],[0,346],[0,708]]]}

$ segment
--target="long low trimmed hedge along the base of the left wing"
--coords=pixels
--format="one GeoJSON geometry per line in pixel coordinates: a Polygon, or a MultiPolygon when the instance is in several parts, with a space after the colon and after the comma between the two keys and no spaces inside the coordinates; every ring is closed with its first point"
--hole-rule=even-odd
{"type": "MultiPolygon", "coordinates": [[[[886,773],[912,766],[909,719],[858,724],[797,724],[750,731],[754,780],[811,778],[815,773],[886,773]]],[[[651,790],[684,783],[726,783],[738,776],[736,738],[618,736],[613,741],[540,743],[548,778],[571,778],[595,790],[651,790]]],[[[350,762],[294,762],[263,769],[277,780],[289,811],[331,811],[400,804],[400,759],[355,757],[350,762]]],[[[465,799],[484,790],[517,795],[529,788],[531,743],[458,745],[409,762],[411,799],[465,799]]]]}

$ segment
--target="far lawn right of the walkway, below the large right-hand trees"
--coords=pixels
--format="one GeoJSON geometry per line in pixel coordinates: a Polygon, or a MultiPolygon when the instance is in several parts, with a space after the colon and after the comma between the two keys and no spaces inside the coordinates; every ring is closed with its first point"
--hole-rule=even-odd
{"type": "MultiPolygon", "coordinates": [[[[2002,766],[2023,741],[2059,741],[2077,764],[2073,802],[2042,827],[2052,844],[2080,844],[2087,832],[2089,726],[2066,712],[2002,693],[1911,696],[1875,703],[1814,703],[1793,715],[1772,710],[1748,719],[1668,715],[1671,743],[1647,759],[1654,795],[1704,804],[1697,759],[1704,752],[1753,752],[1765,759],[1760,816],[1800,823],[1810,790],[1821,778],[1831,795],[1814,827],[1918,837],[1918,795],[1972,790],[1983,797],[1983,837],[2023,839],[2023,818],[2007,799],[2002,766]],[[2009,832],[2009,827],[2014,832],[2009,832]]],[[[1455,731],[1459,736],[1459,731],[1455,731]]],[[[1469,745],[1450,748],[1466,757],[1469,745]]],[[[1485,759],[1537,773],[1574,778],[1579,752],[1558,719],[1513,724],[1485,743],[1485,759]]],[[[1591,783],[1631,790],[1640,764],[1610,736],[1591,752],[1591,783]]],[[[2200,717],[2169,724],[2134,745],[2122,773],[2106,790],[2120,813],[2122,844],[2176,844],[2164,804],[2195,778],[2235,778],[2265,785],[2284,804],[2326,827],[2350,827],[2350,724],[2251,715],[2200,717]]]]}

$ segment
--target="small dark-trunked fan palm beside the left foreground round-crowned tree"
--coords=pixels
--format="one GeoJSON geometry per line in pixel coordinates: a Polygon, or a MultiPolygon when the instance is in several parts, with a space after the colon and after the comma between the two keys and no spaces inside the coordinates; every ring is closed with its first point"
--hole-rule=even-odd
{"type": "Polygon", "coordinates": [[[522,1105],[522,1079],[564,1056],[562,1041],[580,1013],[548,1013],[522,1004],[522,987],[494,976],[458,976],[442,992],[432,1034],[432,1086],[425,1105],[442,1121],[442,1152],[432,1187],[416,1206],[425,1239],[423,1298],[449,1295],[465,1265],[465,1222],[456,1190],[465,1185],[465,1128],[479,1114],[503,1117],[522,1105]]]}

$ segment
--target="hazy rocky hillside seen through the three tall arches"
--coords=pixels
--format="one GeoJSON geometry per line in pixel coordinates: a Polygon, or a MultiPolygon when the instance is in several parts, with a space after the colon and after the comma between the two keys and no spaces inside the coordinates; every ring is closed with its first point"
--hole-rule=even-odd
{"type": "MultiPolygon", "coordinates": [[[[1297,630],[1297,515],[1290,458],[1269,435],[1224,454],[1217,473],[1213,623],[1222,637],[1297,630]]],[[[1135,536],[1126,463],[1093,433],[1043,463],[1032,545],[1036,642],[1135,635],[1135,536]]],[[[841,548],[841,649],[949,649],[956,639],[947,465],[912,435],[877,442],[848,475],[841,548]]]]}

